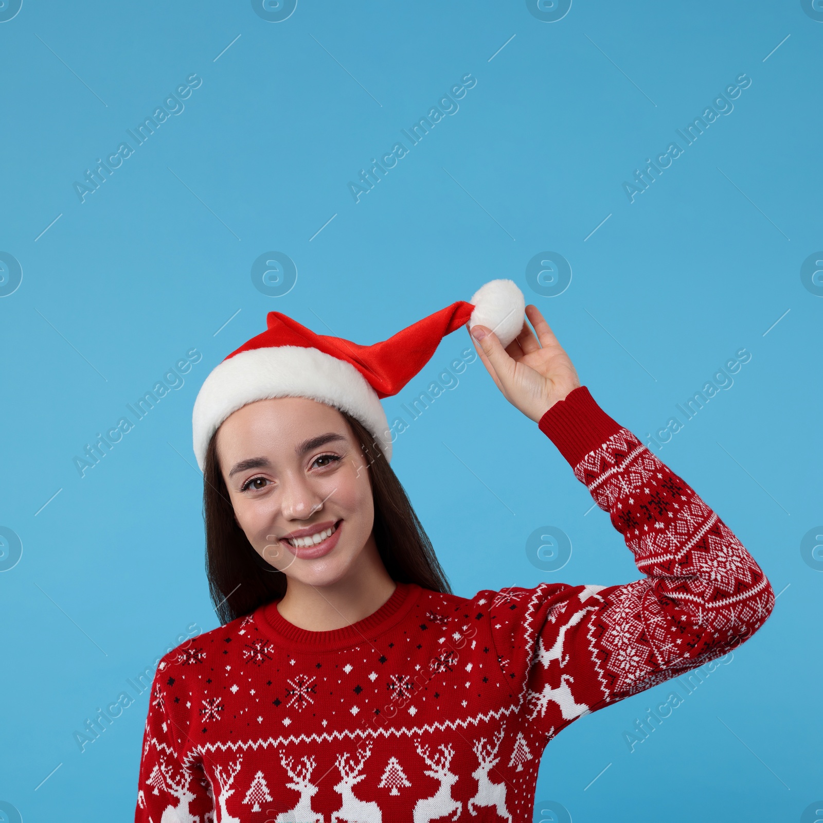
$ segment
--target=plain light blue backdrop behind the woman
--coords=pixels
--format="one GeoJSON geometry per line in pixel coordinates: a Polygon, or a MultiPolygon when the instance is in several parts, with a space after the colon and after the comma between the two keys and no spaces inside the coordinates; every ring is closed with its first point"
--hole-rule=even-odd
{"type": "MultiPolygon", "coordinates": [[[[191,448],[208,371],[272,309],[375,342],[511,277],[640,437],[751,352],[659,453],[780,593],[633,753],[622,732],[667,686],[574,723],[537,800],[574,821],[799,820],[823,794],[823,573],[799,550],[823,523],[823,299],[799,274],[823,249],[821,44],[800,2],[575,0],[549,23],[515,0],[301,0],[272,23],[249,2],[25,0],[0,24],[0,250],[23,269],[0,300],[0,525],[23,545],[0,574],[0,800],[24,821],[133,815],[147,695],[86,751],[72,733],[189,625],[216,625],[191,448]],[[192,72],[185,110],[81,204],[72,184],[192,72]],[[346,184],[467,72],[459,111],[355,203],[346,184]],[[734,111],[630,203],[621,184],[742,72],[734,111]],[[279,298],[249,276],[268,250],[298,270],[279,298]],[[545,250],[573,270],[552,298],[524,274],[545,250]],[[72,458],[192,347],[183,388],[81,479],[72,458]]],[[[446,338],[389,417],[467,343],[446,338]]],[[[638,576],[479,361],[398,438],[393,467],[456,593],[638,576]],[[560,571],[526,556],[543,525],[572,542],[560,571]]]]}

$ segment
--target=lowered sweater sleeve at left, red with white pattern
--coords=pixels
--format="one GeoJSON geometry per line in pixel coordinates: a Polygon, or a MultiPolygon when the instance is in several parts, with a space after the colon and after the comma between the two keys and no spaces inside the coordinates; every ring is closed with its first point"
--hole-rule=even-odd
{"type": "Polygon", "coordinates": [[[198,763],[184,762],[190,707],[175,710],[166,694],[174,683],[171,668],[179,649],[160,659],[151,685],[146,728],[143,732],[135,823],[201,821],[214,811],[212,788],[198,763]],[[167,813],[168,812],[168,813],[167,813]]]}

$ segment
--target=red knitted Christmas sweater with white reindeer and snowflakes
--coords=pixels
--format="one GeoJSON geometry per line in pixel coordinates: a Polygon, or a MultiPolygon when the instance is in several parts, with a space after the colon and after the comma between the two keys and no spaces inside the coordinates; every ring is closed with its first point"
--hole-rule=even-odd
{"type": "Polygon", "coordinates": [[[751,555],[690,486],[575,389],[539,422],[611,516],[633,583],[398,583],[330,631],[277,602],[161,658],[137,823],[531,823],[546,744],[717,658],[769,616],[751,555]]]}

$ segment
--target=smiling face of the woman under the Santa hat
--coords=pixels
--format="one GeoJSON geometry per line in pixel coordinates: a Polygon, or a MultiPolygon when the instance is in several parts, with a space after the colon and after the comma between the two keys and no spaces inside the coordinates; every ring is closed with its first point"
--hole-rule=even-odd
{"type": "Polygon", "coordinates": [[[240,528],[289,579],[337,583],[374,543],[367,463],[336,409],[258,400],[223,422],[216,447],[240,528]]]}

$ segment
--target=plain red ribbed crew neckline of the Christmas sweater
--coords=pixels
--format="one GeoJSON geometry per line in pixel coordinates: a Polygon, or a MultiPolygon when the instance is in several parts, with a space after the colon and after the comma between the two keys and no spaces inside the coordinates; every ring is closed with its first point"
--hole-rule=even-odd
{"type": "Polygon", "coordinates": [[[301,629],[277,611],[279,600],[258,607],[254,611],[254,622],[264,635],[285,646],[318,652],[345,649],[347,646],[356,646],[374,639],[393,625],[397,625],[417,601],[421,591],[421,586],[416,583],[398,583],[391,596],[377,611],[340,629],[301,629]]]}

